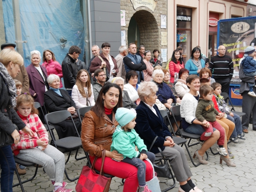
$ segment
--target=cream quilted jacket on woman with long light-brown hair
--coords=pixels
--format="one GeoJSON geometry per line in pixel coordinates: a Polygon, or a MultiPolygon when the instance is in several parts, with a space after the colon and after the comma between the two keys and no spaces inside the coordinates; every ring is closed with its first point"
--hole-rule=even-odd
{"type": "MultiPolygon", "coordinates": [[[[87,87],[84,88],[85,93],[88,94],[87,87]]],[[[77,85],[74,85],[72,89],[72,99],[76,103],[76,108],[86,107],[86,97],[83,97],[79,92],[77,85]]],[[[88,101],[91,103],[91,106],[95,105],[94,95],[93,95],[93,85],[91,84],[91,97],[88,97],[88,101]]]]}

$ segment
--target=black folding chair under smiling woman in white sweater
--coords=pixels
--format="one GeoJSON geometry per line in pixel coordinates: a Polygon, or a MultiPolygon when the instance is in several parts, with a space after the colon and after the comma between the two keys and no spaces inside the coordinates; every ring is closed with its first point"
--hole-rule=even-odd
{"type": "MultiPolygon", "coordinates": [[[[185,138],[185,139],[189,139],[189,141],[188,141],[188,145],[187,144],[184,144],[185,145],[185,147],[186,147],[186,149],[187,149],[187,151],[188,151],[188,155],[189,155],[189,158],[191,159],[191,162],[192,162],[192,164],[194,165],[194,166],[199,166],[201,163],[198,163],[198,164],[195,164],[194,163],[194,161],[193,161],[193,159],[192,159],[192,157],[191,157],[191,155],[190,155],[190,153],[189,153],[189,150],[188,150],[188,147],[191,147],[191,146],[194,146],[194,145],[197,145],[197,144],[199,144],[199,142],[196,142],[196,143],[193,143],[193,144],[190,144],[190,142],[191,142],[191,140],[192,139],[199,139],[200,137],[201,137],[201,135],[196,135],[196,134],[192,134],[192,133],[187,133],[187,132],[185,132],[182,128],[180,129],[180,127],[178,126],[178,123],[177,123],[177,121],[176,121],[176,118],[175,118],[175,116],[178,116],[178,115],[180,115],[180,105],[176,105],[176,106],[173,106],[172,108],[171,108],[171,113],[172,113],[172,116],[174,117],[174,121],[175,121],[175,123],[176,123],[176,125],[177,125],[177,132],[176,132],[176,135],[179,135],[179,136],[181,136],[182,138],[185,138]]],[[[211,150],[211,153],[213,154],[213,155],[217,155],[217,154],[219,154],[219,153],[214,153],[213,151],[212,151],[212,148],[210,147],[210,150],[211,150]]],[[[209,155],[208,155],[208,153],[207,153],[207,151],[205,152],[206,153],[206,161],[209,159],[209,155]]]]}

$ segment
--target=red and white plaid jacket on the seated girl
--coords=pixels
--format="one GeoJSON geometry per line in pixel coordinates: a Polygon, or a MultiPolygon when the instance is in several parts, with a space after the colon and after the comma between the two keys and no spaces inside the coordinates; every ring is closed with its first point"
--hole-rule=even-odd
{"type": "Polygon", "coordinates": [[[37,147],[37,140],[40,138],[45,138],[47,142],[49,142],[48,133],[37,114],[30,114],[30,116],[28,116],[26,119],[23,116],[20,116],[20,118],[26,124],[26,126],[34,132],[35,136],[31,137],[20,130],[20,142],[18,144],[12,144],[11,146],[15,156],[18,155],[19,151],[22,149],[37,147]]]}

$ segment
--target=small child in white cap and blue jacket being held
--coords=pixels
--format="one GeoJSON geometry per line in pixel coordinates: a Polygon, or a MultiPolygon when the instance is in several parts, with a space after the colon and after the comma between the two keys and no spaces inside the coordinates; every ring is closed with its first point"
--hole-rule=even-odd
{"type": "MultiPolygon", "coordinates": [[[[241,65],[244,67],[244,74],[249,77],[256,76],[256,60],[253,59],[254,57],[255,48],[253,46],[248,46],[244,50],[244,59],[241,62],[241,65]]],[[[248,95],[252,97],[256,97],[256,94],[253,91],[253,86],[255,83],[248,83],[250,88],[248,95]]]]}

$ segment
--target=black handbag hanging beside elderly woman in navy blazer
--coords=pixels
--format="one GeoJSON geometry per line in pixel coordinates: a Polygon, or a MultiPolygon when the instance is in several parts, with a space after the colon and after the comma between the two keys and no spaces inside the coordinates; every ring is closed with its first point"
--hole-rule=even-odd
{"type": "MultiPolygon", "coordinates": [[[[158,136],[156,136],[155,139],[153,140],[153,143],[151,144],[149,151],[153,147],[155,140],[157,140],[157,138],[158,138],[158,136]]],[[[169,163],[168,163],[169,159],[165,158],[160,147],[158,147],[158,150],[160,151],[160,153],[162,155],[162,159],[159,161],[159,163],[157,163],[157,164],[154,163],[153,166],[154,166],[155,172],[157,173],[158,177],[172,178],[171,170],[169,168],[169,163]]]]}

